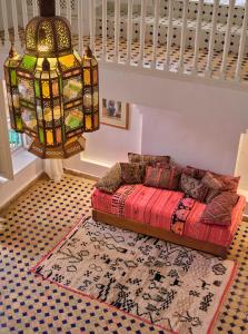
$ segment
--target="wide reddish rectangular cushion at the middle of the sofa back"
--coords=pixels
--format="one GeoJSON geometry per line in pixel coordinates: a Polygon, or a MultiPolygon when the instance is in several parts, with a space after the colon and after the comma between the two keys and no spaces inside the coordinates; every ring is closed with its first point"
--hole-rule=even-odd
{"type": "Polygon", "coordinates": [[[176,166],[152,167],[146,169],[143,185],[161,189],[176,190],[178,188],[181,169],[176,166]]]}

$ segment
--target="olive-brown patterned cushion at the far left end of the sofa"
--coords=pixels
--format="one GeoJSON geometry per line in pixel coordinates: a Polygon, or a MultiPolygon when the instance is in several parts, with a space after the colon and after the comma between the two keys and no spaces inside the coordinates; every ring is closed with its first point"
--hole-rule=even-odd
{"type": "Polygon", "coordinates": [[[121,168],[120,164],[113,165],[110,170],[103,176],[97,184],[96,187],[101,191],[113,194],[121,186],[121,168]]]}

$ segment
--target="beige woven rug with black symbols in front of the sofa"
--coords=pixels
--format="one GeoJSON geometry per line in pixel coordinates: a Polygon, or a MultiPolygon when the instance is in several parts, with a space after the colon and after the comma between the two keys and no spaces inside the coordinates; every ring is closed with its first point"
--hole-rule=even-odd
{"type": "Polygon", "coordinates": [[[32,271],[168,332],[205,334],[236,265],[82,218],[32,271]]]}

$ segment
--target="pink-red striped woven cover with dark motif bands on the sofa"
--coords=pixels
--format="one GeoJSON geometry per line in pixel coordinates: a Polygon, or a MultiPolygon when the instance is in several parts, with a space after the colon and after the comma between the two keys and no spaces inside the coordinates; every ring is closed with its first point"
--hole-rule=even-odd
{"type": "Polygon", "coordinates": [[[121,186],[113,195],[97,188],[92,194],[92,207],[97,210],[221,246],[231,244],[245,205],[246,199],[240,196],[232,210],[231,225],[219,226],[200,223],[206,204],[185,198],[180,191],[146,187],[139,184],[121,186]],[[183,204],[182,209],[181,204],[183,204]],[[178,224],[178,220],[183,223],[178,224]]]}

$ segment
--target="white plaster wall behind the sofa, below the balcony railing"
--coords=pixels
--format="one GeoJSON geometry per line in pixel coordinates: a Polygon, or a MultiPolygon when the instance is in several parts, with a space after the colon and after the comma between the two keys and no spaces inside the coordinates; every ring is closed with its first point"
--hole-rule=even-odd
{"type": "MultiPolygon", "coordinates": [[[[214,81],[177,80],[161,71],[149,73],[101,65],[101,97],[136,104],[131,114],[135,118],[139,115],[139,128],[126,132],[102,126],[87,136],[85,157],[101,170],[98,160],[111,165],[129,150],[170,154],[182,165],[234,174],[239,138],[248,128],[248,91],[214,81]]],[[[67,166],[81,171],[86,168],[79,157],[77,166],[73,161],[67,166]]],[[[90,173],[91,167],[85,171],[90,173]]]]}

